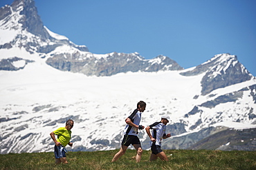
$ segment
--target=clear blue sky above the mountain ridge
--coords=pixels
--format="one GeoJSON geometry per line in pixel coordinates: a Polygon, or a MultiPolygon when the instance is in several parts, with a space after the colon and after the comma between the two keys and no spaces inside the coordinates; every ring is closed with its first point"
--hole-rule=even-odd
{"type": "Polygon", "coordinates": [[[255,0],[35,0],[35,6],[49,30],[95,54],[163,54],[188,68],[230,53],[256,76],[255,0]]]}

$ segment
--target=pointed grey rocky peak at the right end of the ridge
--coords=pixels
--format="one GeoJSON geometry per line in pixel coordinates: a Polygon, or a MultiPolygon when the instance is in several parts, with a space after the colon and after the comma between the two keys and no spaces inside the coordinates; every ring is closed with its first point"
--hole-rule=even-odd
{"type": "Polygon", "coordinates": [[[248,70],[239,63],[237,56],[230,54],[217,54],[212,59],[198,65],[194,70],[182,72],[183,76],[205,74],[201,81],[201,94],[206,95],[214,89],[235,85],[254,78],[248,70]]]}

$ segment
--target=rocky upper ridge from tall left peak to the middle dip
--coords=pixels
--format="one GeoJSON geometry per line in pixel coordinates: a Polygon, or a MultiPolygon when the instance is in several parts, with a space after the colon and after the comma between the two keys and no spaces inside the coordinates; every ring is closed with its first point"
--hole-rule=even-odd
{"type": "MultiPolygon", "coordinates": [[[[48,65],[58,70],[80,72],[87,76],[183,70],[167,56],[145,60],[138,53],[92,54],[85,45],[75,45],[65,36],[48,30],[38,16],[33,0],[15,0],[11,6],[1,8],[0,13],[0,34],[8,34],[1,36],[0,49],[24,47],[30,54],[37,53],[45,58],[48,65]]],[[[1,56],[0,59],[7,59],[7,56],[1,56]]],[[[6,68],[7,65],[0,64],[5,70],[13,70],[11,61],[8,63],[9,69],[6,68]]]]}

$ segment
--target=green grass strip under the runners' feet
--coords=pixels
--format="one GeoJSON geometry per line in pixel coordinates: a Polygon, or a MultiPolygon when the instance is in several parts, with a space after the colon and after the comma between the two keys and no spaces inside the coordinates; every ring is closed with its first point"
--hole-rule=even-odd
{"type": "Polygon", "coordinates": [[[168,162],[149,162],[151,152],[143,151],[140,163],[135,163],[136,151],[127,150],[111,162],[116,152],[68,152],[68,164],[59,165],[53,153],[9,153],[0,155],[0,169],[256,169],[256,151],[165,150],[168,162]]]}

